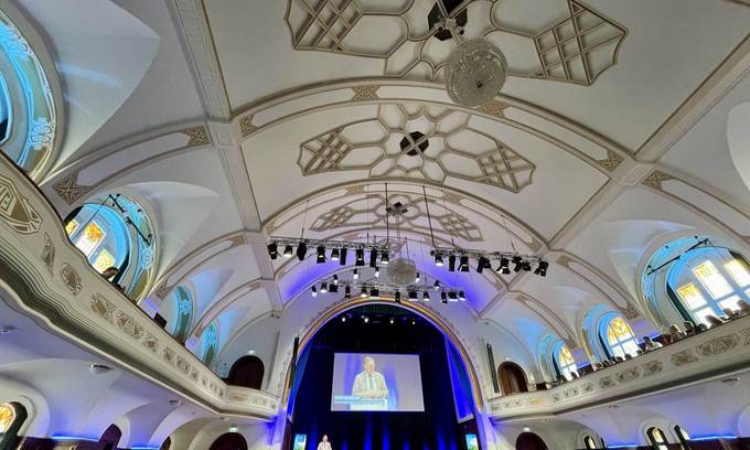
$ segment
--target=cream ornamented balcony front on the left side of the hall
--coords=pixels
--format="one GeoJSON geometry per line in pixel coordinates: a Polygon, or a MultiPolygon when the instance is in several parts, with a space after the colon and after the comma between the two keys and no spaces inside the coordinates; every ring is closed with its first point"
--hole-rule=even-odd
{"type": "Polygon", "coordinates": [[[57,213],[0,152],[0,278],[26,309],[90,351],[219,414],[270,420],[278,397],[227,386],[96,272],[57,213]]]}

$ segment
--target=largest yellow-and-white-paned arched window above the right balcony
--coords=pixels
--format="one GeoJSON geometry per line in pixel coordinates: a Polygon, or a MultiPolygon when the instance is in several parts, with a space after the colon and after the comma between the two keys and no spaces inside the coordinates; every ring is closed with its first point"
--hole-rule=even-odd
{"type": "Polygon", "coordinates": [[[698,247],[681,256],[667,275],[667,293],[687,318],[708,324],[709,314],[750,302],[750,271],[739,254],[722,247],[698,247]]]}

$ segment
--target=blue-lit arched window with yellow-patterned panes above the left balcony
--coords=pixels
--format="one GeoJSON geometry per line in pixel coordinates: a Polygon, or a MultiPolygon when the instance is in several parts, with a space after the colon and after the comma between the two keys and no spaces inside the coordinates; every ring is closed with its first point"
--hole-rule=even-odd
{"type": "Polygon", "coordinates": [[[65,221],[71,242],[98,272],[116,268],[111,281],[139,300],[153,272],[153,228],[143,208],[125,195],[104,195],[73,211],[65,221]]]}

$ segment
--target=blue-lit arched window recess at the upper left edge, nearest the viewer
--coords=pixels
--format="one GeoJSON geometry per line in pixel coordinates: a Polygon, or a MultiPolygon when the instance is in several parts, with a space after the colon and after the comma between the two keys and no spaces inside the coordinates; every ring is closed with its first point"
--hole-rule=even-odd
{"type": "Polygon", "coordinates": [[[36,179],[49,169],[57,119],[52,88],[38,54],[0,11],[0,143],[36,179]]]}

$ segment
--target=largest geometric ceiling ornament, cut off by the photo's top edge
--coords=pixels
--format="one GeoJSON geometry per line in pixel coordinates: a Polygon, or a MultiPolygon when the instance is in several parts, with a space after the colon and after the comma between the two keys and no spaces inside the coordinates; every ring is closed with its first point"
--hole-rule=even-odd
{"type": "Polygon", "coordinates": [[[510,76],[590,86],[617,63],[624,26],[578,0],[549,0],[544,13],[559,12],[545,22],[536,22],[540,11],[527,8],[525,22],[508,23],[503,11],[524,2],[288,0],[285,21],[293,49],[385,60],[386,77],[444,81],[458,42],[446,28],[430,26],[436,7],[465,30],[467,40],[484,39],[507,50],[510,76]]]}

